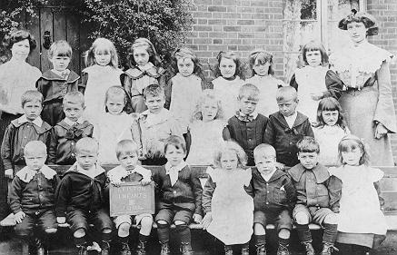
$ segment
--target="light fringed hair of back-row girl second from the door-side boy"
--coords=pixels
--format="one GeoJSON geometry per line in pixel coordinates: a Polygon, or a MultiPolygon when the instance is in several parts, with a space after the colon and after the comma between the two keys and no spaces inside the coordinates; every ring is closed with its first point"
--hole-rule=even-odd
{"type": "Polygon", "coordinates": [[[93,45],[85,53],[84,61],[86,66],[91,66],[96,64],[95,61],[96,50],[104,51],[105,53],[110,53],[111,59],[109,65],[114,68],[118,68],[118,54],[114,44],[109,39],[102,37],[96,38],[93,45]]]}

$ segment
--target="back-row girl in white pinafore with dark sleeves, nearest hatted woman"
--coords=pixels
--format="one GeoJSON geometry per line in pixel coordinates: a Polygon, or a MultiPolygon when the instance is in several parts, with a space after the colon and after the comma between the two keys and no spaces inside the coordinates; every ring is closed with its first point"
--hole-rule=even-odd
{"type": "Polygon", "coordinates": [[[311,123],[315,123],[319,101],[330,96],[338,100],[343,83],[328,68],[328,55],[323,44],[316,42],[305,44],[302,54],[305,65],[296,69],[290,85],[298,92],[297,111],[309,117],[311,123]]]}

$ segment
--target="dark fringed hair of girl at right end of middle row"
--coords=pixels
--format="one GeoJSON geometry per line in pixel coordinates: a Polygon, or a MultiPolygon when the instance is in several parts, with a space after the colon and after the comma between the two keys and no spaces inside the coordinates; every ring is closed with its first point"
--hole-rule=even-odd
{"type": "Polygon", "coordinates": [[[339,114],[336,124],[339,125],[342,130],[346,131],[346,123],[344,121],[342,106],[336,99],[333,97],[325,97],[320,101],[317,108],[317,123],[315,124],[315,127],[323,127],[325,125],[322,115],[323,111],[338,111],[339,114]]]}

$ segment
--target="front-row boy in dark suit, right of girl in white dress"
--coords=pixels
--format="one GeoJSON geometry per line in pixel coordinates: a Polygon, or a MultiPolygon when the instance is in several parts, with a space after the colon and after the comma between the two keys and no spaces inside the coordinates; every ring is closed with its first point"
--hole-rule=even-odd
{"type": "Polygon", "coordinates": [[[247,192],[253,196],[253,236],[257,255],[266,255],[266,225],[276,226],[279,247],[277,255],[288,255],[293,229],[291,212],[296,201],[293,182],[286,172],[277,169],[272,145],[260,144],[253,150],[256,168],[247,192]]]}

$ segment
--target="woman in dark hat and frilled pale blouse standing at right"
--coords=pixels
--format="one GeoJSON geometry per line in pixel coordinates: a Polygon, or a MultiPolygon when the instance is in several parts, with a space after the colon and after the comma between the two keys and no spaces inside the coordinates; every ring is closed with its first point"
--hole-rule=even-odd
{"type": "Polygon", "coordinates": [[[352,10],[339,22],[352,44],[331,55],[330,63],[346,90],[339,102],[352,134],[370,146],[372,164],[394,165],[388,133],[397,131],[389,62],[393,55],[373,44],[367,36],[378,34],[372,15],[352,10]]]}

